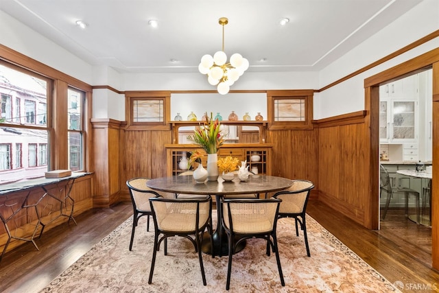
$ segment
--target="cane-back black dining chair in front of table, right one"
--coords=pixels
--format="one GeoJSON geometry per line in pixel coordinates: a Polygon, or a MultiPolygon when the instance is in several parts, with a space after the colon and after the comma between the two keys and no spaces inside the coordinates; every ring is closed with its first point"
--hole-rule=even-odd
{"type": "Polygon", "coordinates": [[[250,238],[261,238],[267,241],[266,254],[270,256],[270,248],[272,248],[276,255],[281,284],[285,286],[276,237],[280,203],[281,200],[276,198],[222,199],[222,224],[228,239],[226,290],[230,288],[233,254],[241,242],[250,238]]]}

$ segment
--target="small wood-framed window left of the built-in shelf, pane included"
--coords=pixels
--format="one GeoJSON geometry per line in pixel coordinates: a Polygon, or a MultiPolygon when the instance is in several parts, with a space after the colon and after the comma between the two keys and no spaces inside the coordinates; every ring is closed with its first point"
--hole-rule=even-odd
{"type": "Polygon", "coordinates": [[[169,130],[171,93],[129,92],[126,95],[128,129],[169,130]]]}

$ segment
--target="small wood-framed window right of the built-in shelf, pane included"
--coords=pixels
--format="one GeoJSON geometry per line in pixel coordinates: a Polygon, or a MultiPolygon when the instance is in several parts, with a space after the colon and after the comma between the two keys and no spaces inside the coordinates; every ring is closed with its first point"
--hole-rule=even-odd
{"type": "Polygon", "coordinates": [[[268,91],[269,129],[312,129],[313,91],[268,91]]]}

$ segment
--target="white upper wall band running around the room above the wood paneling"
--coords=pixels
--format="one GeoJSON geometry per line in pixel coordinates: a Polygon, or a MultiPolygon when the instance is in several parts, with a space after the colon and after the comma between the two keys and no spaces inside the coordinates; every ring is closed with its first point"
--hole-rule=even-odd
{"type": "MultiPolygon", "coordinates": [[[[0,11],[0,27],[0,43],[2,45],[88,84],[109,85],[120,91],[214,89],[206,81],[206,77],[200,73],[119,74],[108,68],[93,68],[2,11],[0,11]],[[50,51],[50,54],[47,54],[47,51],[50,51]]],[[[320,89],[438,29],[439,1],[424,0],[320,73],[246,72],[232,86],[232,89],[320,89]]],[[[402,56],[385,62],[379,67],[316,94],[313,109],[314,119],[364,110],[363,82],[365,78],[436,47],[439,47],[439,40],[432,40],[402,56]]],[[[123,95],[117,95],[108,90],[94,92],[93,117],[105,118],[106,116],[124,120],[123,95]]]]}

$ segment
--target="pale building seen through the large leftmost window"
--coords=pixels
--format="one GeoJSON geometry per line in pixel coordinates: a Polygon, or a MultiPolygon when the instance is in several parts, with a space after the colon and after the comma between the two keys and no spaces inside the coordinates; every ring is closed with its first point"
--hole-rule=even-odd
{"type": "Polygon", "coordinates": [[[0,93],[0,184],[44,176],[47,81],[0,65],[0,93]]]}

